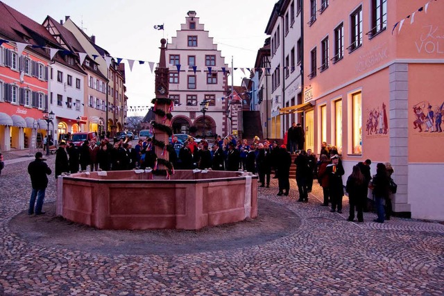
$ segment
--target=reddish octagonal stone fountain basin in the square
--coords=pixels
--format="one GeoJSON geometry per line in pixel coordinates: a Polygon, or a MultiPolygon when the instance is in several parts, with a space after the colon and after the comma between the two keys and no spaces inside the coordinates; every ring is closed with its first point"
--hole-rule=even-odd
{"type": "Polygon", "coordinates": [[[201,229],[257,217],[257,176],[144,171],[58,177],[56,213],[99,229],[201,229]]]}

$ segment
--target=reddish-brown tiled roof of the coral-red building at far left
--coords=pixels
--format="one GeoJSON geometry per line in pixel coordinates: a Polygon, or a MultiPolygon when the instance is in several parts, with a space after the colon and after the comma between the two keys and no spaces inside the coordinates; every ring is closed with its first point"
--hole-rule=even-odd
{"type": "MultiPolygon", "coordinates": [[[[54,48],[60,47],[60,44],[54,40],[44,26],[3,2],[0,2],[0,15],[0,35],[3,35],[6,39],[37,46],[51,45],[54,48]]],[[[30,46],[27,49],[49,57],[45,49],[33,49],[30,46]]]]}

